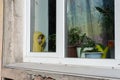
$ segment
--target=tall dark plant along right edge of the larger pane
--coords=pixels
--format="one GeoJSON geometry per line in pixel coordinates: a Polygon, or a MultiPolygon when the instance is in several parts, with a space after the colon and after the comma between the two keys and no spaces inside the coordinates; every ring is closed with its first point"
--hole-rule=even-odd
{"type": "Polygon", "coordinates": [[[95,7],[96,10],[103,16],[103,31],[109,40],[114,39],[114,10],[112,7],[95,7]]]}

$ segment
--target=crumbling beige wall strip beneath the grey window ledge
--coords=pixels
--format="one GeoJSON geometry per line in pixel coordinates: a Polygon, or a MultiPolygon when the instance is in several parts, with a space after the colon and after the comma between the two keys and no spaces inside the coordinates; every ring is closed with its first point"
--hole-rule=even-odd
{"type": "MultiPolygon", "coordinates": [[[[68,76],[68,75],[59,75],[59,74],[51,74],[51,73],[44,73],[44,72],[37,72],[37,71],[24,71],[24,70],[17,70],[17,69],[3,69],[2,77],[10,78],[14,80],[49,80],[49,79],[35,79],[36,76],[40,75],[41,78],[44,77],[51,77],[55,80],[104,80],[104,79],[95,79],[95,78],[85,78],[85,77],[78,77],[78,76],[68,76]],[[36,76],[34,76],[36,75],[36,76]]],[[[50,80],[53,80],[50,79],[50,80]]],[[[108,80],[108,79],[106,79],[108,80]]]]}

